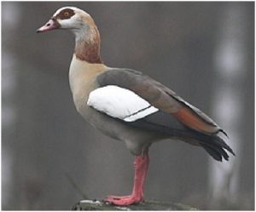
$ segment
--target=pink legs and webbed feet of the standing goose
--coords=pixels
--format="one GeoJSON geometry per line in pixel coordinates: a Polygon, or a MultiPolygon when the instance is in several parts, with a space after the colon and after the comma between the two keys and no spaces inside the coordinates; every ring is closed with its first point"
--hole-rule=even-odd
{"type": "Polygon", "coordinates": [[[130,205],[133,203],[139,203],[144,200],[143,198],[143,186],[148,172],[149,157],[148,153],[144,156],[137,156],[134,160],[134,184],[131,195],[124,197],[108,196],[104,201],[113,203],[116,205],[130,205]]]}

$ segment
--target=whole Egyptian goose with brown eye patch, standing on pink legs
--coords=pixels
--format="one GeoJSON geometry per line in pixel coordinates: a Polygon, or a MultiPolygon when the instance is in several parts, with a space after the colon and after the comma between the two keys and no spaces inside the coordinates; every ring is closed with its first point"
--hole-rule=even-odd
{"type": "Polygon", "coordinates": [[[235,155],[218,136],[226,133],[195,106],[165,85],[127,68],[103,64],[100,34],[94,20],[81,9],[63,7],[37,32],[67,29],[75,35],[69,83],[76,109],[102,133],[123,140],[135,155],[134,186],[130,196],[108,196],[104,201],[129,205],[143,201],[143,184],[148,171],[148,148],[172,138],[203,147],[212,158],[235,155]]]}

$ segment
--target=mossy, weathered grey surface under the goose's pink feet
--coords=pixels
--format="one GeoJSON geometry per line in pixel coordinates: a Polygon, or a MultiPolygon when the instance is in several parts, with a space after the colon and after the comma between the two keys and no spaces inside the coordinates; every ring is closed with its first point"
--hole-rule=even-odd
{"type": "Polygon", "coordinates": [[[197,210],[182,203],[163,203],[160,201],[146,201],[136,205],[116,206],[98,200],[81,200],[73,205],[73,210],[197,210]]]}

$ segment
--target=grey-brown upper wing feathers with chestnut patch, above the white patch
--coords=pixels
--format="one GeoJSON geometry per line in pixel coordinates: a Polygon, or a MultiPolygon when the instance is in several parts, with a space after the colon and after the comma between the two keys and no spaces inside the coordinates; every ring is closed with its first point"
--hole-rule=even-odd
{"type": "Polygon", "coordinates": [[[175,117],[190,129],[210,135],[217,134],[219,131],[224,132],[205,113],[190,105],[171,89],[141,72],[115,68],[98,76],[97,83],[99,87],[116,85],[123,89],[129,89],[143,100],[147,100],[151,106],[175,117]]]}

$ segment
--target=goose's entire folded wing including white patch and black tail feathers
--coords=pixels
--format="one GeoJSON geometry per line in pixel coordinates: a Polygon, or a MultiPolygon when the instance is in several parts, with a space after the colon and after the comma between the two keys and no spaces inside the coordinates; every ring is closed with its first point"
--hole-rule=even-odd
{"type": "MultiPolygon", "coordinates": [[[[125,124],[202,146],[212,158],[229,159],[225,132],[210,117],[171,89],[141,72],[112,69],[96,78],[87,104],[125,124]]],[[[235,154],[234,154],[235,155],[235,154]]]]}

